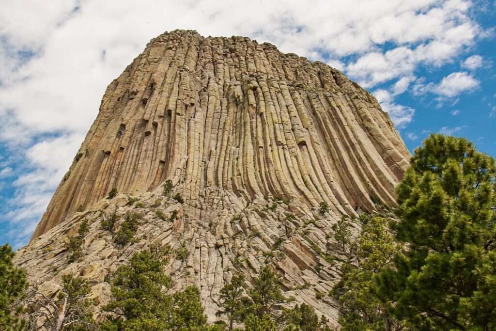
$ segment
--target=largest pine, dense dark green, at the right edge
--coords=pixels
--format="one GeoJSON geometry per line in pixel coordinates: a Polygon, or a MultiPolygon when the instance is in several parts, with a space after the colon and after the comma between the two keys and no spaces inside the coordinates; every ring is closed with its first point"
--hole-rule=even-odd
{"type": "Polygon", "coordinates": [[[463,138],[432,134],[397,188],[404,243],[377,294],[418,330],[496,329],[495,161],[463,138]]]}

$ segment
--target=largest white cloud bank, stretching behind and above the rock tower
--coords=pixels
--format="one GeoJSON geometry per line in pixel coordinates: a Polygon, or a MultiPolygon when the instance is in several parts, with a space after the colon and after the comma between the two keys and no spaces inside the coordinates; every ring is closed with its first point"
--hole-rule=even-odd
{"type": "MultiPolygon", "coordinates": [[[[164,31],[249,36],[325,60],[370,87],[394,79],[381,105],[404,127],[414,110],[394,97],[408,89],[416,69],[452,61],[484,33],[469,17],[470,6],[468,0],[1,1],[0,142],[28,150],[16,157],[30,169],[15,182],[20,207],[9,217],[39,219],[107,84],[164,31]],[[385,44],[392,48],[382,51],[385,44]],[[357,60],[345,63],[347,56],[357,60]]],[[[16,240],[25,242],[26,233],[16,240]]]]}

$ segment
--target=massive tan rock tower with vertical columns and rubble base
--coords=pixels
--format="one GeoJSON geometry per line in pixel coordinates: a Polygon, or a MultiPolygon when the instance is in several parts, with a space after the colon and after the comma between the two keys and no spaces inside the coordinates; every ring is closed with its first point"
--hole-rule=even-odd
{"type": "Polygon", "coordinates": [[[286,294],[336,324],[335,302],[318,295],[346,258],[331,227],[393,206],[409,157],[377,100],[340,71],[244,37],[164,33],[108,86],[17,264],[48,294],[62,270],[78,272],[104,304],[109,272],[160,242],[187,252],[168,273],[176,289],[198,286],[211,319],[234,274],[249,281],[269,264],[286,294]],[[167,180],[183,203],[163,195],[167,180]],[[116,247],[100,223],[131,209],[144,221],[116,247]],[[68,263],[63,243],[83,219],[83,257],[68,263]]]}

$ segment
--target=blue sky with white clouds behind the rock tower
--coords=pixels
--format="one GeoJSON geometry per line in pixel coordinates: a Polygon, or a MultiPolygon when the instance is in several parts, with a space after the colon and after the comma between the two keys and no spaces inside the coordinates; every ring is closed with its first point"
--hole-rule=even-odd
{"type": "Polygon", "coordinates": [[[107,85],[164,31],[326,63],[410,151],[440,132],[496,156],[495,22],[494,0],[0,0],[0,244],[27,244],[107,85]]]}

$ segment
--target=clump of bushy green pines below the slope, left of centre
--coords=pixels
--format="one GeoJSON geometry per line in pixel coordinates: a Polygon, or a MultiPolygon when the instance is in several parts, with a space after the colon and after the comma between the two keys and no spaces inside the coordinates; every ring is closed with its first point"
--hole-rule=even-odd
{"type": "Polygon", "coordinates": [[[168,246],[151,246],[133,254],[129,265],[120,266],[112,281],[112,302],[104,307],[111,312],[102,330],[181,330],[220,331],[208,327],[199,290],[187,287],[173,295],[165,294],[171,279],[164,272],[168,246]]]}

